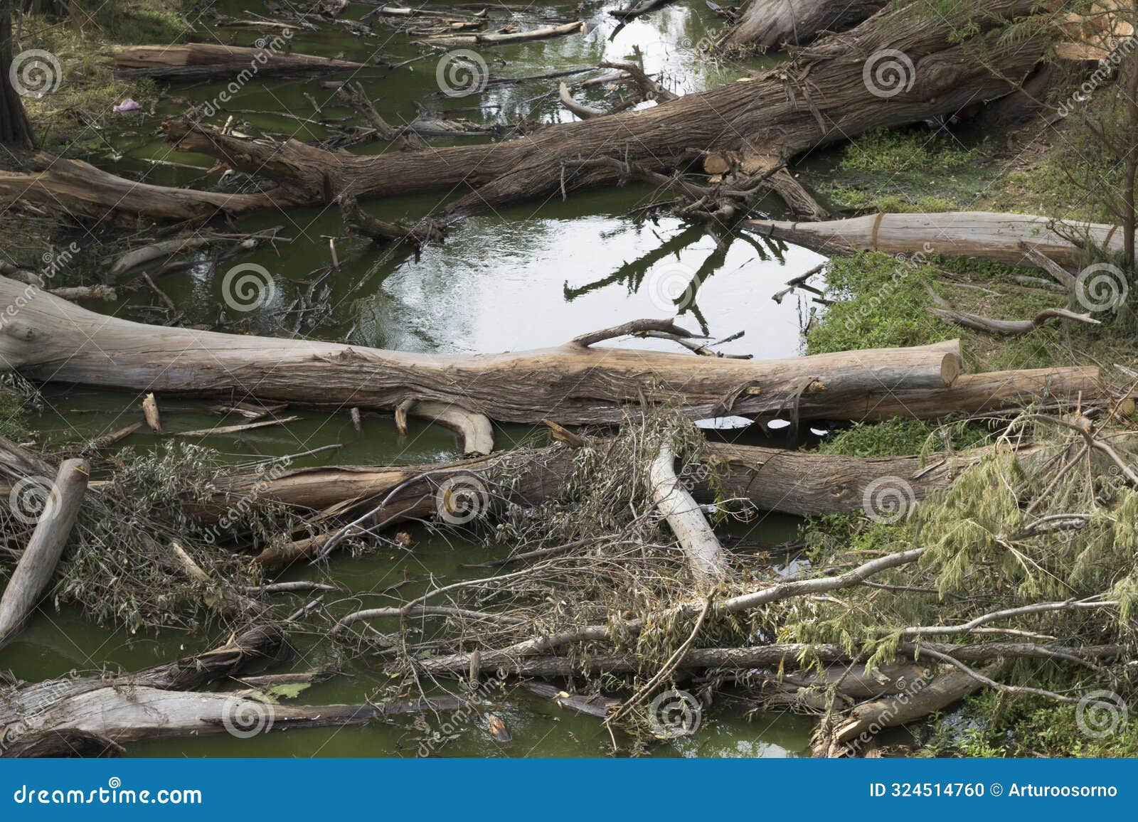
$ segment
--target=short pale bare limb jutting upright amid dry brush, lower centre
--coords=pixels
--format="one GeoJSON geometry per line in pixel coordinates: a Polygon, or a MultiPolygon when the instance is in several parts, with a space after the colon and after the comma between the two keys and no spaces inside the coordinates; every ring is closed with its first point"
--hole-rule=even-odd
{"type": "Polygon", "coordinates": [[[649,492],[657,510],[668,520],[668,526],[684,549],[696,585],[712,586],[727,575],[727,558],[719,539],[703,517],[703,510],[679,484],[675,462],[671,449],[660,446],[660,453],[649,467],[649,492]]]}

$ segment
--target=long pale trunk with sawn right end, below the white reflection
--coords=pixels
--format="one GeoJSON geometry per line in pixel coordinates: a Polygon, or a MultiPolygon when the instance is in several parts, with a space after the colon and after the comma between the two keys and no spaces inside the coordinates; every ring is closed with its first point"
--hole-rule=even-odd
{"type": "MultiPolygon", "coordinates": [[[[538,422],[551,413],[564,424],[619,422],[624,405],[642,402],[678,404],[695,419],[791,412],[795,402],[835,417],[833,411],[858,398],[951,385],[960,362],[958,340],[773,361],[579,340],[504,354],[382,351],[145,326],[6,278],[0,306],[8,312],[0,363],[33,379],[388,411],[406,401],[434,401],[513,422],[538,422]]],[[[668,321],[640,321],[601,338],[650,326],[677,330],[668,321]]]]}

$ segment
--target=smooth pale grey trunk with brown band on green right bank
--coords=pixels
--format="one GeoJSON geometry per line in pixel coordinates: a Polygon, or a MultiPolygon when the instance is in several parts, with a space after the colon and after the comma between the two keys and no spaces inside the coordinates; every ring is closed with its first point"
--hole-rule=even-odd
{"type": "Polygon", "coordinates": [[[1025,246],[1059,265],[1079,265],[1082,261],[1082,252],[1073,240],[1122,250],[1122,233],[1116,225],[992,212],[869,214],[813,223],[748,220],[743,228],[824,254],[871,248],[887,254],[979,257],[1037,268],[1042,266],[1025,246]]]}

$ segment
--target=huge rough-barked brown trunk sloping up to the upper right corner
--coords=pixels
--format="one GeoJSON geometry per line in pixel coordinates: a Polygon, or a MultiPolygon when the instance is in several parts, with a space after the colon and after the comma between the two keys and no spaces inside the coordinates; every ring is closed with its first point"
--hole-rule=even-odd
{"type": "MultiPolygon", "coordinates": [[[[1000,18],[1029,13],[1031,0],[991,0],[978,14],[978,31],[1000,18]]],[[[972,43],[954,42],[964,19],[922,17],[912,9],[884,9],[843,35],[824,38],[762,76],[703,93],[687,94],[644,110],[563,123],[523,139],[478,146],[450,146],[429,151],[354,156],[324,151],[296,140],[284,143],[242,140],[216,129],[173,122],[170,140],[190,151],[213,155],[233,168],[259,173],[280,183],[258,195],[216,195],[178,189],[147,189],[116,204],[99,198],[105,212],[170,219],[187,207],[200,219],[264,207],[281,208],[332,202],[344,194],[390,197],[477,188],[439,215],[453,220],[519,199],[545,197],[586,186],[611,183],[620,172],[576,158],[618,157],[652,171],[698,167],[693,150],[753,154],[756,146],[778,158],[848,139],[874,129],[904,125],[964,106],[998,98],[1015,89],[1042,52],[1036,39],[1001,43],[992,35],[988,59],[970,58],[972,43]],[[913,65],[898,88],[863,81],[873,55],[902,51],[913,65]],[[167,199],[178,204],[174,209],[167,199]],[[190,202],[193,200],[193,202],[190,202]]],[[[981,36],[989,36],[981,34],[981,36]]],[[[72,175],[77,166],[71,168],[72,175]]],[[[91,180],[91,184],[107,184],[91,180]]],[[[130,183],[125,183],[129,188],[130,183]]],[[[0,205],[27,200],[71,212],[73,190],[59,190],[52,172],[0,176],[0,205]]],[[[119,192],[122,194],[122,191],[119,192]]],[[[79,215],[90,209],[92,192],[82,196],[79,215]]]]}

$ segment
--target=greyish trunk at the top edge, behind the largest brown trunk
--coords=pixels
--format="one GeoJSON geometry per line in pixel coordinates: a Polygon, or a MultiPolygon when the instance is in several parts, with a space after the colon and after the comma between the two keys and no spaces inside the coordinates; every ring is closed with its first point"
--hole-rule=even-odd
{"type": "Polygon", "coordinates": [[[822,32],[846,31],[885,6],[885,0],[751,0],[724,43],[761,49],[806,46],[822,32]]]}

